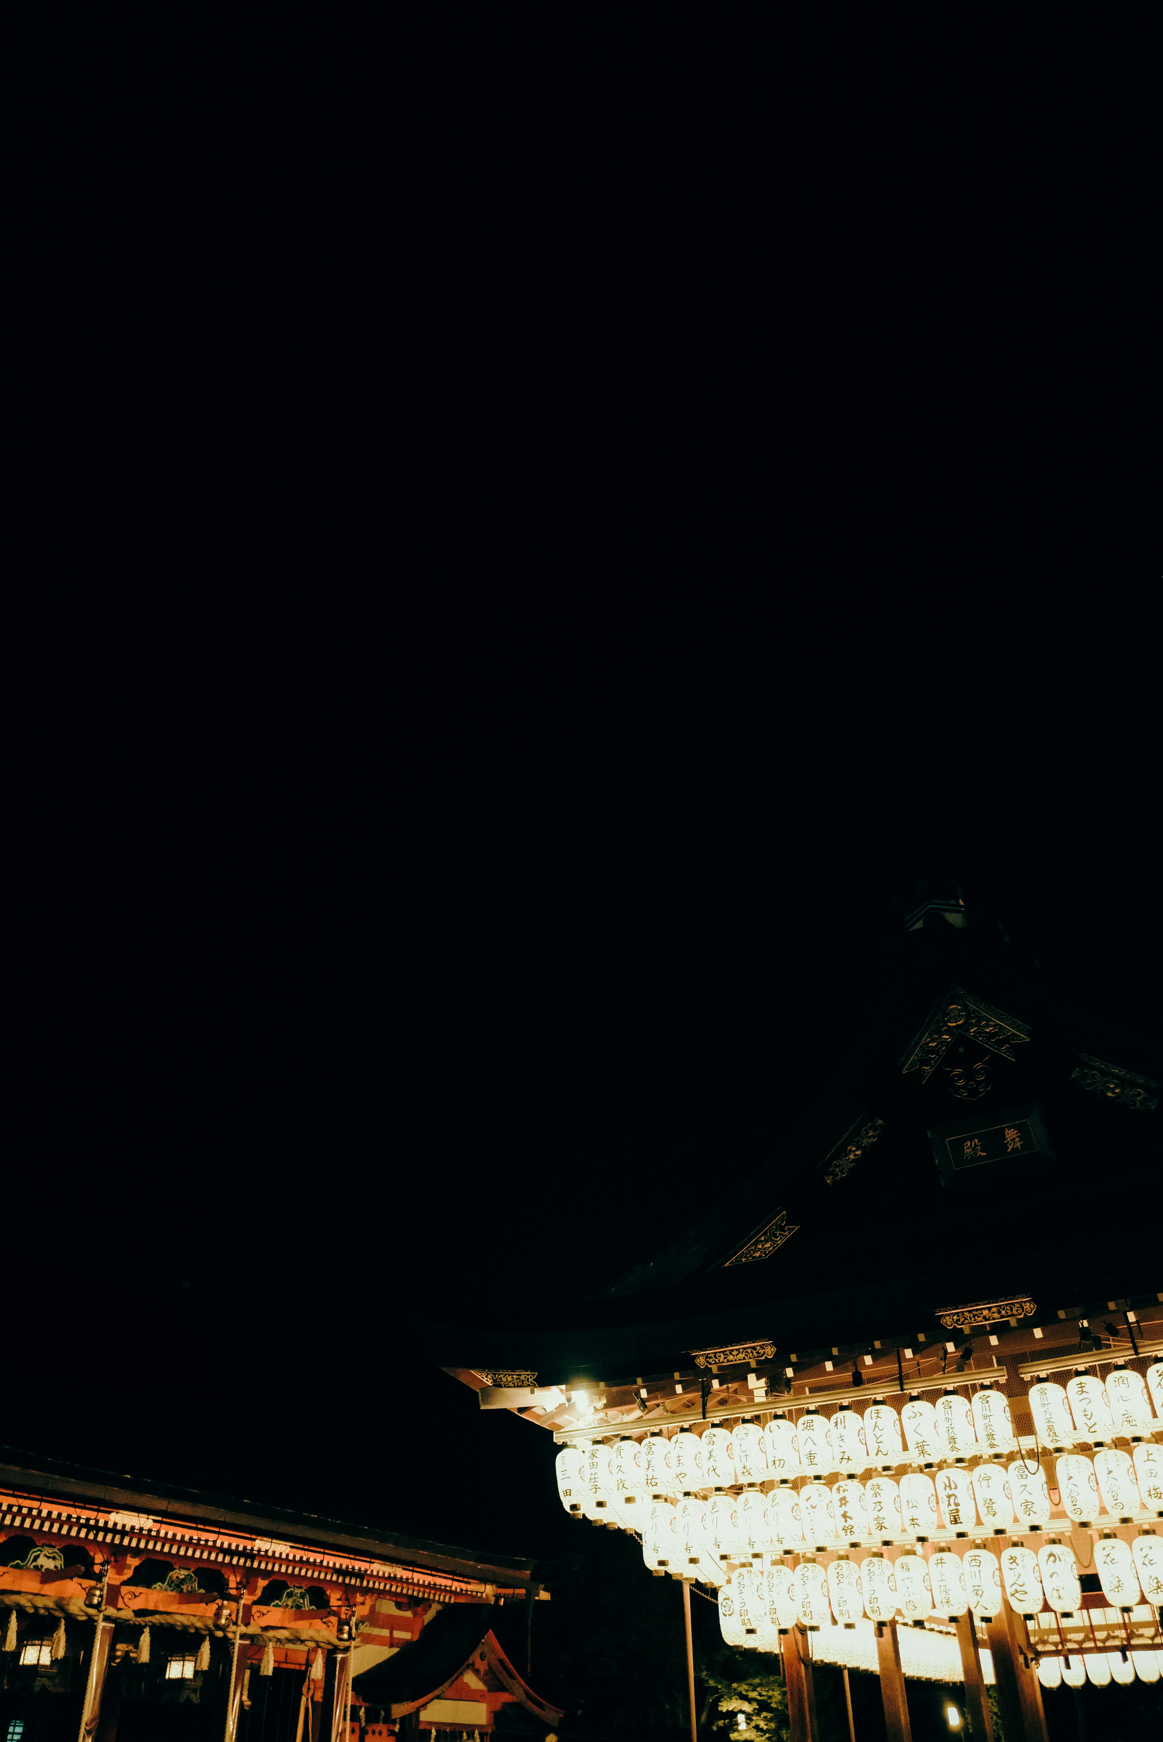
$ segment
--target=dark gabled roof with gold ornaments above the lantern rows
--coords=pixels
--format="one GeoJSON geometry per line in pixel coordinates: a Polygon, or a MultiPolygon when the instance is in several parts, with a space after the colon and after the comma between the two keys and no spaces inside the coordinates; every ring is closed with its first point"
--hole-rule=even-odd
{"type": "Polygon", "coordinates": [[[677,1239],[652,1246],[643,1226],[640,1256],[588,1296],[547,1282],[530,1312],[429,1322],[436,1361],[544,1387],[757,1338],[799,1354],[915,1334],[994,1294],[1060,1310],[1154,1291],[1133,1212],[1158,1157],[1154,1043],[947,908],[908,916],[877,979],[837,984],[830,1080],[781,1110],[765,1165],[734,1178],[708,1157],[677,1239]]]}

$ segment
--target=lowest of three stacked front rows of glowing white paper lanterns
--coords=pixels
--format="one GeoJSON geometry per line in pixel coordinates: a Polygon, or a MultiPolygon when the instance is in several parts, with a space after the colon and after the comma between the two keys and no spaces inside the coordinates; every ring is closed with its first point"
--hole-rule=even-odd
{"type": "MultiPolygon", "coordinates": [[[[1153,1531],[1125,1543],[1102,1536],[1095,1543],[1095,1570],[1112,1606],[1130,1610],[1163,1601],[1163,1540],[1153,1531]]],[[[797,1624],[825,1627],[832,1617],[853,1625],[865,1615],[891,1622],[896,1615],[919,1622],[928,1617],[957,1620],[966,1611],[992,1620],[1001,1592],[1027,1620],[1043,1608],[1072,1617],[1083,1606],[1078,1563],[1069,1545],[1048,1542],[1034,1554],[1015,1545],[1001,1559],[976,1543],[957,1554],[938,1549],[928,1559],[903,1549],[894,1561],[874,1550],[856,1563],[839,1554],[826,1568],[807,1556],[738,1568],[718,1589],[718,1618],[729,1644],[764,1644],[797,1624]]]]}

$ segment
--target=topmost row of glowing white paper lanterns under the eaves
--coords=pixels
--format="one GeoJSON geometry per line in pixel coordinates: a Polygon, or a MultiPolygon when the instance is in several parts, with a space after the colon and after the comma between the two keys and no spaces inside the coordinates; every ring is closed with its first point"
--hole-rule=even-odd
{"type": "MultiPolygon", "coordinates": [[[[1151,1413],[1153,1397],[1163,1416],[1163,1362],[1146,1380],[1130,1367],[1116,1367],[1105,1385],[1088,1373],[1078,1373],[1065,1387],[1043,1380],[1032,1387],[1029,1402],[1039,1439],[1058,1448],[1072,1444],[1076,1434],[1104,1441],[1153,1432],[1160,1425],[1151,1413]]],[[[649,1434],[642,1446],[626,1439],[617,1451],[617,1488],[678,1495],[868,1462],[893,1465],[907,1456],[917,1462],[992,1456],[1010,1446],[1010,1402],[983,1385],[971,1401],[957,1390],[943,1392],[936,1404],[910,1397],[900,1413],[877,1399],[863,1415],[840,1406],[828,1418],[809,1408],[795,1423],[776,1415],[765,1427],[746,1420],[734,1430],[717,1423],[701,1435],[690,1427],[680,1427],[673,1439],[649,1434]]]]}

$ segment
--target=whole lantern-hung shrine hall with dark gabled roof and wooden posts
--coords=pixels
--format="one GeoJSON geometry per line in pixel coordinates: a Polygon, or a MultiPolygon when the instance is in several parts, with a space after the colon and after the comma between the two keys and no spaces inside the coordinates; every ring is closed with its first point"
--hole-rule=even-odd
{"type": "Polygon", "coordinates": [[[879,1676],[889,1742],[914,1678],[1046,1742],[1057,1690],[1163,1671],[1161,1071],[1004,942],[921,902],[765,1165],[708,1157],[697,1221],[589,1298],[427,1324],[563,1507],[682,1580],[692,1739],[692,1589],[793,1742],[820,1664],[879,1676]]]}

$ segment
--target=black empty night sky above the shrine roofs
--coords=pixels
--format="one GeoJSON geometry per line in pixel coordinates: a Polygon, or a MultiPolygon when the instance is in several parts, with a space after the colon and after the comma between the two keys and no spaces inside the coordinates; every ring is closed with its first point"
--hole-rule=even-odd
{"type": "Polygon", "coordinates": [[[1156,1021],[1133,103],[943,178],[860,45],[654,47],[347,45],[331,131],[242,45],[44,169],[9,1444],[553,1554],[413,1313],[760,1167],[919,876],[1156,1021]]]}

